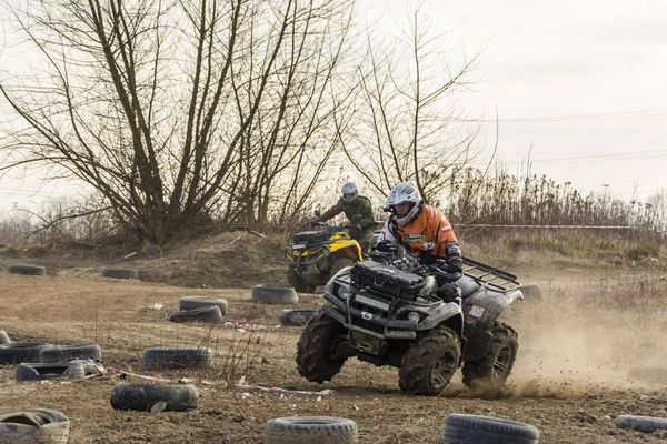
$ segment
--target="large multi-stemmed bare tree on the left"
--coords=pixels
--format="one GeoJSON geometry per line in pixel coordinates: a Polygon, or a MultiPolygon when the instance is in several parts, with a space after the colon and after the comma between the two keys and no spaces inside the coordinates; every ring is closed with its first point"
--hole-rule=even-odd
{"type": "Polygon", "coordinates": [[[299,211],[337,143],[352,6],[7,0],[21,49],[41,58],[0,79],[22,121],[1,170],[78,178],[157,243],[212,215],[257,224],[299,211]]]}

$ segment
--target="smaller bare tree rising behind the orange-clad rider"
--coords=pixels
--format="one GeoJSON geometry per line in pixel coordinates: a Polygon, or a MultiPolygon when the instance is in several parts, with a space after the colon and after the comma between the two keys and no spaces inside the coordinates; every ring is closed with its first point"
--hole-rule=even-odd
{"type": "Polygon", "coordinates": [[[475,84],[479,54],[452,65],[442,52],[447,34],[430,32],[424,3],[409,17],[396,43],[368,34],[360,103],[337,125],[347,158],[378,193],[411,181],[434,200],[477,154],[479,125],[457,111],[455,94],[475,84]]]}

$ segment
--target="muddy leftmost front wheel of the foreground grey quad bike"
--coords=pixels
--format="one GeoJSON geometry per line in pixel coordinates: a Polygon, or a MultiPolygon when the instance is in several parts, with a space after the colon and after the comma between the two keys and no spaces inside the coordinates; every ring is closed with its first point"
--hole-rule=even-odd
{"type": "Polygon", "coordinates": [[[297,343],[299,374],[322,383],[340,372],[347,356],[337,356],[338,344],[347,341],[347,331],[338,321],[319,311],[308,321],[297,343]]]}

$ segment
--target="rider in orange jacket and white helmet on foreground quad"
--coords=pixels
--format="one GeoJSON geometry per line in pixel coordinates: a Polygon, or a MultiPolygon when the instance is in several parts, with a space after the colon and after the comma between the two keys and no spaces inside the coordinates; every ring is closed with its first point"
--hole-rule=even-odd
{"type": "Polygon", "coordinates": [[[424,265],[444,259],[447,268],[442,271],[464,271],[461,249],[449,221],[440,210],[424,203],[412,183],[402,182],[394,186],[384,210],[391,215],[378,238],[378,250],[382,249],[382,244],[400,244],[424,265]]]}

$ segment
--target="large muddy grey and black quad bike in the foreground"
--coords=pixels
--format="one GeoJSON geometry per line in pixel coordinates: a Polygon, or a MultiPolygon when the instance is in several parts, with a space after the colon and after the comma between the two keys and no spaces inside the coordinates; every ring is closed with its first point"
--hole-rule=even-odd
{"type": "Polygon", "coordinates": [[[518,341],[497,319],[524,299],[517,278],[469,259],[462,273],[446,273],[407,256],[376,252],[330,279],[327,303],[297,344],[299,373],[330,381],[356,356],[398,367],[398,385],[411,394],[438,395],[461,365],[467,386],[502,386],[518,341]]]}

